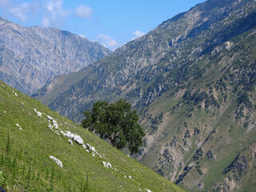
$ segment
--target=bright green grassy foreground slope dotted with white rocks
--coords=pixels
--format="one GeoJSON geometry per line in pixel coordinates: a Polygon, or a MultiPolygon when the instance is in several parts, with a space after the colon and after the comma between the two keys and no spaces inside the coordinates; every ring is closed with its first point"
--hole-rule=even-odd
{"type": "Polygon", "coordinates": [[[0,186],[7,191],[182,191],[40,102],[14,92],[0,82],[0,186]],[[59,135],[48,127],[53,122],[46,115],[58,123],[52,129],[59,135]],[[60,130],[80,135],[98,154],[75,142],[71,146],[60,130]]]}

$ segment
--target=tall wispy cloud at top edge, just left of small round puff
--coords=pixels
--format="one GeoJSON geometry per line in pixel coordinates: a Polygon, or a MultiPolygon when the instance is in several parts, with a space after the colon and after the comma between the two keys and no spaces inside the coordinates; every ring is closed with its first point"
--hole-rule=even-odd
{"type": "Polygon", "coordinates": [[[70,10],[64,10],[62,4],[62,0],[51,0],[45,3],[42,26],[62,26],[63,19],[70,14],[70,10]]]}

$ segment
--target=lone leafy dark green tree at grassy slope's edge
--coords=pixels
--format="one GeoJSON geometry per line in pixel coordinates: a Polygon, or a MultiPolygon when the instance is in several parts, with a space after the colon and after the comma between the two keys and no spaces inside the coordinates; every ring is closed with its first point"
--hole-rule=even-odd
{"type": "Polygon", "coordinates": [[[92,110],[85,111],[84,114],[84,128],[98,134],[102,139],[109,140],[118,150],[128,146],[132,154],[138,153],[145,133],[138,124],[137,111],[131,110],[131,105],[126,100],[121,99],[110,104],[94,102],[92,110]]]}

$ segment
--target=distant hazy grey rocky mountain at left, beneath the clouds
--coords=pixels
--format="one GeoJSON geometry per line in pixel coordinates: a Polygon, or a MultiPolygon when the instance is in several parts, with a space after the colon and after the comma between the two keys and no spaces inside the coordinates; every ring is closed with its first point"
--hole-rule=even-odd
{"type": "Polygon", "coordinates": [[[0,17],[0,79],[25,94],[108,54],[98,42],[68,31],[19,26],[0,17]]]}

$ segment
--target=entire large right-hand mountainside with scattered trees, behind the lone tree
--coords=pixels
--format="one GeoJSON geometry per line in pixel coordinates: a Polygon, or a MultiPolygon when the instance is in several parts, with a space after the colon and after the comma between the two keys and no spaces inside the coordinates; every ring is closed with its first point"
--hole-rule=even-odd
{"type": "Polygon", "coordinates": [[[255,18],[254,0],[203,2],[36,98],[76,122],[125,98],[146,130],[142,164],[187,191],[251,191],[255,18]]]}

